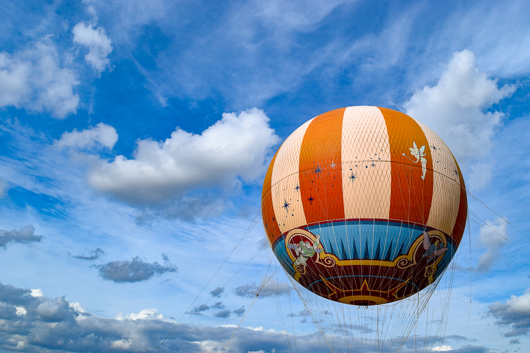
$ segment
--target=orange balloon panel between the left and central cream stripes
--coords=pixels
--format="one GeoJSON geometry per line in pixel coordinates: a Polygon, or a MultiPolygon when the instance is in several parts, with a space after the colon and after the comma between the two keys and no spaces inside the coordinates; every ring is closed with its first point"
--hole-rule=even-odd
{"type": "Polygon", "coordinates": [[[315,117],[304,135],[298,176],[307,223],[344,219],[341,147],[345,110],[315,117]]]}

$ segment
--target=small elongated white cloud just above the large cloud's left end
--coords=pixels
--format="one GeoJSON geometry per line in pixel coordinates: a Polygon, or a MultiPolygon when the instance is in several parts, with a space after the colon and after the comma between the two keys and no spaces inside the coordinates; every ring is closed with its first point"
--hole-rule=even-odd
{"type": "Polygon", "coordinates": [[[117,141],[118,134],[116,133],[116,129],[110,125],[99,123],[82,131],[74,129],[72,132],[64,132],[55,144],[59,148],[91,148],[101,144],[104,147],[112,149],[117,141]]]}

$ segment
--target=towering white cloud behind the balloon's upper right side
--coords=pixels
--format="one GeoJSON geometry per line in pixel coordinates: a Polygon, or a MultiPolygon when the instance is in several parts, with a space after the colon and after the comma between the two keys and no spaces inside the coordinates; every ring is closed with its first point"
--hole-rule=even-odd
{"type": "Polygon", "coordinates": [[[515,89],[510,85],[499,88],[496,79],[476,68],[474,54],[463,50],[454,53],[435,86],[418,90],[403,106],[407,114],[440,135],[456,159],[466,164],[487,156],[505,115],[491,111],[491,106],[515,89]]]}

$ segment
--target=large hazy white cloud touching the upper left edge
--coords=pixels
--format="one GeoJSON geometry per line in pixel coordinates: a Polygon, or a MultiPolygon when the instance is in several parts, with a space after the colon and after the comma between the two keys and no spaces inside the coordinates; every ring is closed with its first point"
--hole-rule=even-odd
{"type": "Polygon", "coordinates": [[[13,55],[0,52],[0,107],[14,106],[30,112],[50,112],[64,119],[77,112],[79,82],[72,69],[61,68],[49,38],[13,55]]]}

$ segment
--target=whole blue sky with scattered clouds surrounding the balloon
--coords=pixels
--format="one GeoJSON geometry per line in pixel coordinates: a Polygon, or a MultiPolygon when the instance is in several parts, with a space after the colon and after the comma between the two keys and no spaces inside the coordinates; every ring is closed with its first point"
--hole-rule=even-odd
{"type": "MultiPolygon", "coordinates": [[[[222,349],[271,273],[271,155],[318,114],[376,105],[437,132],[522,231],[470,199],[508,240],[471,223],[436,350],[528,351],[529,15],[522,1],[2,2],[0,350],[149,352],[183,314],[161,349],[222,349]]],[[[279,299],[268,285],[228,349],[289,350],[281,322],[304,307],[281,269],[271,281],[279,299]]],[[[294,317],[297,349],[325,351],[294,317]]]]}

